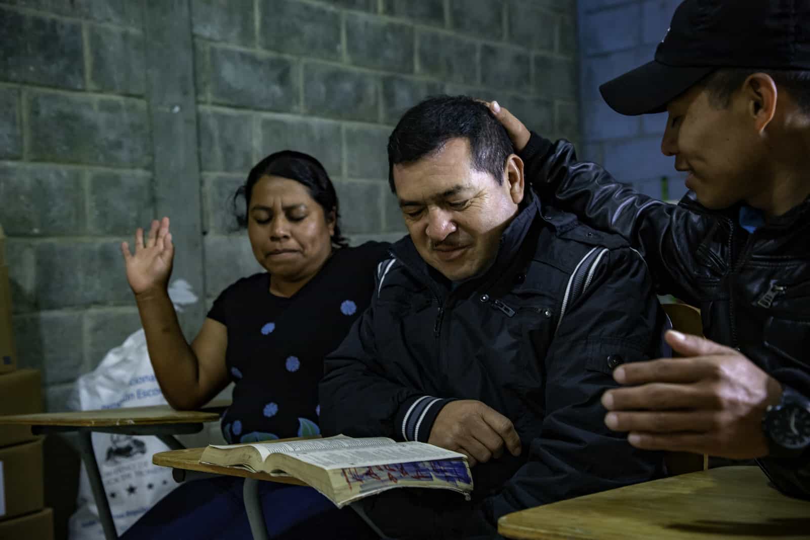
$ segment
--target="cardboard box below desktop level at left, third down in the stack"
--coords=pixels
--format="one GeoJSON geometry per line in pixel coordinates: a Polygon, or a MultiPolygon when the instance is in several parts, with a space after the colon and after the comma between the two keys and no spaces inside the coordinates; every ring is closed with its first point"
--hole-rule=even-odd
{"type": "Polygon", "coordinates": [[[45,508],[42,439],[0,449],[0,520],[45,508]]]}

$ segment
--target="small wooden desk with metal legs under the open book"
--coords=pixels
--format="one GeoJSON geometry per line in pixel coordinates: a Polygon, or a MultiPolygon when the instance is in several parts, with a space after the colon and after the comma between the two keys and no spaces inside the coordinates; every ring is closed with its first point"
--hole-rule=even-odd
{"type": "MultiPolygon", "coordinates": [[[[285,440],[301,440],[310,439],[312,437],[296,437],[294,439],[279,439],[267,442],[284,442],[285,440]]],[[[236,467],[220,467],[215,465],[207,465],[200,463],[200,456],[203,454],[203,449],[182,449],[171,450],[168,452],[159,452],[152,456],[152,463],[164,467],[171,467],[172,476],[177,482],[199,478],[200,475],[207,476],[209,474],[224,474],[225,476],[237,476],[245,478],[245,484],[242,487],[242,495],[245,500],[245,512],[248,515],[250,523],[250,533],[253,534],[254,540],[268,540],[267,525],[264,520],[264,512],[262,511],[262,503],[258,496],[258,483],[259,482],[275,482],[292,484],[295,486],[306,486],[307,483],[302,482],[298,478],[290,476],[271,476],[266,473],[252,473],[249,470],[237,469],[236,467]],[[192,474],[189,474],[189,473],[192,474]]],[[[374,525],[369,517],[363,512],[363,508],[358,504],[350,504],[352,509],[377,533],[380,538],[386,538],[382,531],[374,525]]]]}

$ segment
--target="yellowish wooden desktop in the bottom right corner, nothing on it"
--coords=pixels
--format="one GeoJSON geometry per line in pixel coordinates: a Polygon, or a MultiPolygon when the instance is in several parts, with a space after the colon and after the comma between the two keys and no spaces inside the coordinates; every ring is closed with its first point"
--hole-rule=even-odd
{"type": "Polygon", "coordinates": [[[755,466],[721,467],[584,495],[498,520],[506,538],[810,538],[810,501],[782,495],[755,466]]]}

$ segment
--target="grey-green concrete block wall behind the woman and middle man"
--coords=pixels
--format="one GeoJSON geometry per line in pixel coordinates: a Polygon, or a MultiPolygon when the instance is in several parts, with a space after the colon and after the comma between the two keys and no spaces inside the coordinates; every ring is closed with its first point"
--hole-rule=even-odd
{"type": "Polygon", "coordinates": [[[386,139],[425,96],[579,141],[576,25],[573,0],[0,0],[0,223],[48,409],[140,327],[118,244],[158,212],[206,304],[258,270],[230,197],[264,155],[321,159],[357,244],[405,232],[386,139]]]}

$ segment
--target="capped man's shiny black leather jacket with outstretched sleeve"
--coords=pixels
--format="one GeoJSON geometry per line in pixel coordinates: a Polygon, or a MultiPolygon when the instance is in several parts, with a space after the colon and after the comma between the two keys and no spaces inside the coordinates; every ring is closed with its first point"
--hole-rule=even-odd
{"type": "MultiPolygon", "coordinates": [[[[544,198],[624,236],[642,253],[659,294],[701,308],[706,338],[810,396],[810,199],[749,234],[739,207],[707,210],[693,192],[677,205],[647,197],[598,164],[578,162],[569,142],[533,133],[522,158],[544,198]]],[[[780,490],[808,498],[808,454],[757,461],[780,490]]]]}

